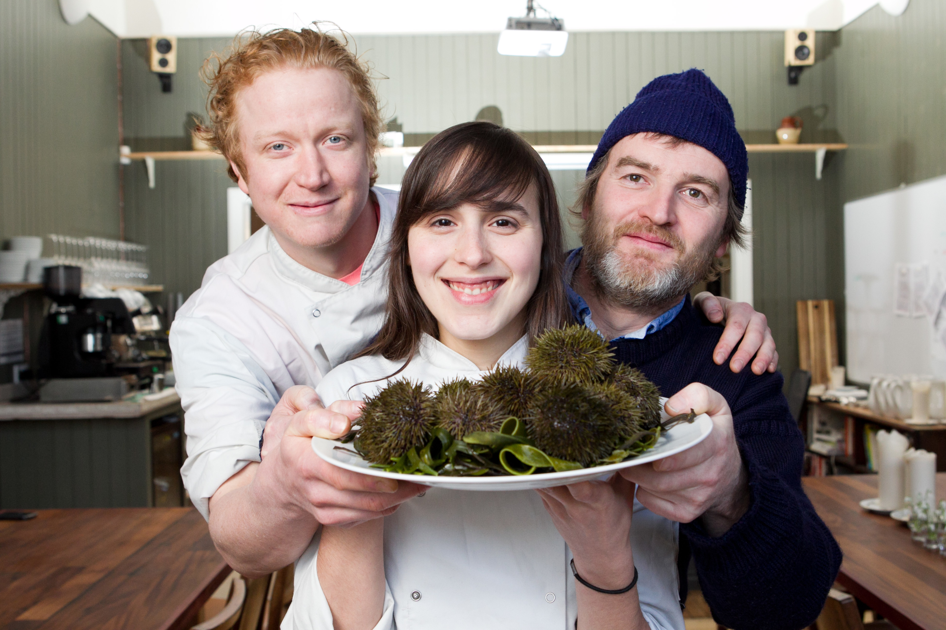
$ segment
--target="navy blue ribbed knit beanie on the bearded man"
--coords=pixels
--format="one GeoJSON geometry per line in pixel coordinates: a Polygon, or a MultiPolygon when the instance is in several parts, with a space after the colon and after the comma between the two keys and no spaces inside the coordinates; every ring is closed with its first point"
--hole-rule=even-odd
{"type": "Polygon", "coordinates": [[[644,86],[634,102],[607,126],[587,172],[622,138],[642,131],[665,133],[710,151],[726,164],[736,201],[745,207],[745,178],[749,172],[745,142],[736,131],[729,101],[710,77],[691,68],[678,75],[657,77],[644,86]]]}

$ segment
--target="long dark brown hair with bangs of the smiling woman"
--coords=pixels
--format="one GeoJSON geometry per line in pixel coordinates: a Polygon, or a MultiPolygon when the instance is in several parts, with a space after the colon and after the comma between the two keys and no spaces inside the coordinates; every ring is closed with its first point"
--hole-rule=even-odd
{"type": "Polygon", "coordinates": [[[431,214],[464,203],[501,212],[516,203],[531,185],[538,195],[542,254],[538,284],[526,304],[525,332],[531,342],[546,329],[568,321],[562,284],[562,223],[545,162],[510,129],[484,121],[463,123],[429,140],[404,174],[388,252],[384,325],[371,345],[357,356],[380,354],[393,361],[410,359],[422,333],[440,336],[437,320],[417,293],[408,264],[408,232],[413,226],[431,214]]]}

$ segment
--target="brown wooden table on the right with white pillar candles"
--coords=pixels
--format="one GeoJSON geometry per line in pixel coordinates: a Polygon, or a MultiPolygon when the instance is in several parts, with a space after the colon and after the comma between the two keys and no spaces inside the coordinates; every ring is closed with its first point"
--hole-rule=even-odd
{"type": "MultiPolygon", "coordinates": [[[[946,628],[946,557],[910,539],[902,523],[868,514],[877,475],[805,477],[805,492],[844,552],[837,581],[900,630],[946,628]]],[[[937,474],[937,501],[946,473],[937,474]]]]}

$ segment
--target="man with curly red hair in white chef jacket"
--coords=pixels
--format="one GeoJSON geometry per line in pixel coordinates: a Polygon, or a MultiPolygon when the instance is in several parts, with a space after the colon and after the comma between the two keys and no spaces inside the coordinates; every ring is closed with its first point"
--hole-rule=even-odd
{"type": "MultiPolygon", "coordinates": [[[[346,43],[317,28],[253,33],[207,77],[204,140],[267,227],[207,269],[171,348],[184,484],[219,552],[249,576],[296,560],[320,523],[385,516],[422,489],[326,465],[310,448],[313,435],[346,434],[358,417],[358,403],[326,410],[311,388],[380,328],[397,204],[373,187],[383,123],[346,43]]],[[[703,308],[716,320],[728,309],[717,363],[745,331],[733,369],[763,341],[753,369],[774,369],[762,315],[712,298],[703,308]]]]}

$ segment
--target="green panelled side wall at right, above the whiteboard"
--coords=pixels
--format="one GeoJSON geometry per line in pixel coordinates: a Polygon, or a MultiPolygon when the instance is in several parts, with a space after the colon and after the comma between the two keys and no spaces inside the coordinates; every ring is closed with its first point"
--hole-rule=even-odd
{"type": "Polygon", "coordinates": [[[841,30],[844,200],[946,174],[944,33],[941,0],[912,0],[899,17],[874,7],[841,30]]]}

